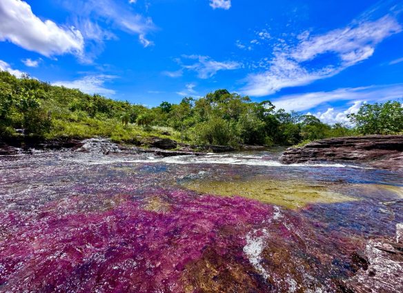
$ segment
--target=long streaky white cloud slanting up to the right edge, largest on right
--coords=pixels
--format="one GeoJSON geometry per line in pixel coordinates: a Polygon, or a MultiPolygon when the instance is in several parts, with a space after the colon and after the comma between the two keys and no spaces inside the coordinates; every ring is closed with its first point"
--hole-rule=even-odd
{"type": "Polygon", "coordinates": [[[306,85],[318,79],[332,77],[349,66],[368,59],[378,43],[401,31],[402,26],[396,19],[386,15],[377,21],[353,23],[322,35],[310,36],[308,32],[304,32],[293,40],[297,42],[295,46],[280,40],[279,45],[275,46],[273,59],[268,62],[268,70],[248,75],[242,92],[262,97],[282,88],[306,85]],[[311,62],[326,53],[334,54],[337,62],[319,67],[311,62]]]}

